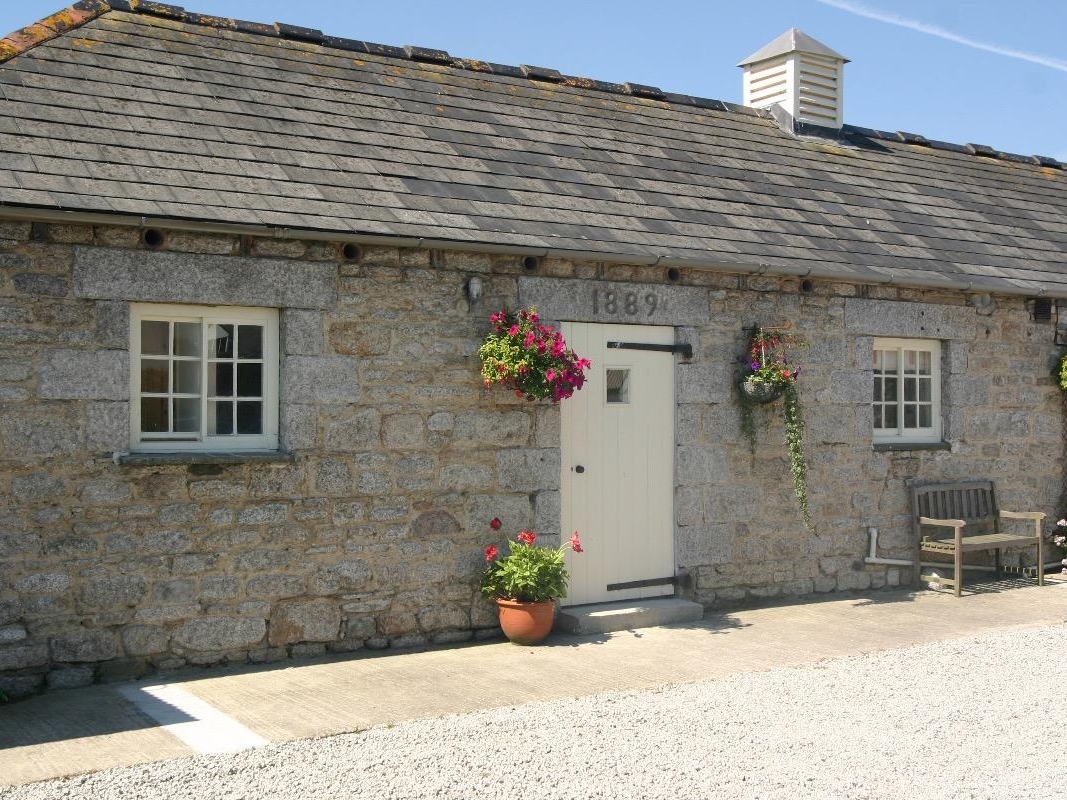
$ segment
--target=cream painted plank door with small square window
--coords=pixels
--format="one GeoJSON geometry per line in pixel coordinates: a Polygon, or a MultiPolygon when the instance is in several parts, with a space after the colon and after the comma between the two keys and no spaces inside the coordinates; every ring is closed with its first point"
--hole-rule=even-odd
{"type": "Polygon", "coordinates": [[[673,594],[617,585],[674,574],[674,355],[608,342],[673,345],[674,329],[572,322],[563,336],[592,361],[561,410],[562,533],[585,547],[568,553],[563,605],[673,594]]]}

